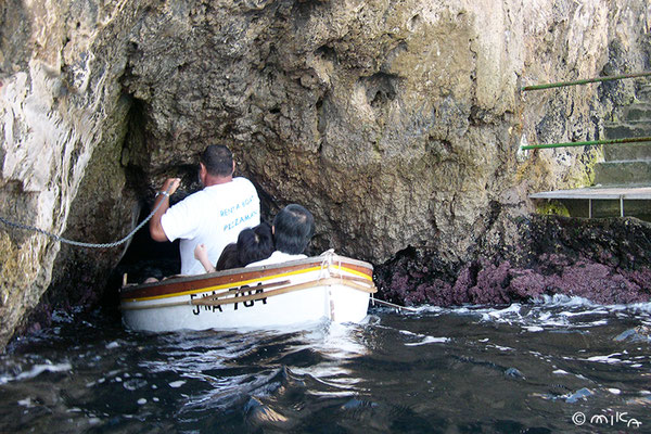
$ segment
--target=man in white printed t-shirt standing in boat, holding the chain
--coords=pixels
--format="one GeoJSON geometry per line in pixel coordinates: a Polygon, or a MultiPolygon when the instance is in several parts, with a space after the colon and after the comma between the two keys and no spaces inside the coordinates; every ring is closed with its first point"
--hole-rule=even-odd
{"type": "Polygon", "coordinates": [[[224,247],[235,242],[242,229],[260,222],[257,191],[248,179],[233,178],[234,169],[230,150],[213,144],[201,155],[203,190],[169,207],[169,196],[180,183],[180,179],[169,178],[156,194],[154,207],[163,204],[150,221],[150,233],[155,241],[181,240],[181,275],[205,272],[194,258],[196,244],[205,244],[208,259],[216,264],[224,247]]]}

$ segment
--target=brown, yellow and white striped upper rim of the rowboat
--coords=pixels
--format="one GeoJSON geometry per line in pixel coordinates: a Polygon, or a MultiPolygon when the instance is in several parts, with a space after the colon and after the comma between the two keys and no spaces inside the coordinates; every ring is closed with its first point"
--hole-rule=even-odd
{"type": "MultiPolygon", "coordinates": [[[[342,268],[349,268],[361,275],[366,275],[372,281],[373,266],[359,259],[353,259],[346,256],[311,256],[304,259],[291,260],[281,264],[263,265],[250,268],[233,268],[224,271],[216,271],[196,276],[180,276],[169,278],[158,282],[142,283],[135,285],[125,285],[120,289],[119,297],[122,301],[136,301],[138,298],[165,297],[182,292],[201,292],[204,289],[226,285],[250,280],[263,279],[276,275],[291,273],[307,269],[306,266],[336,265],[342,268]]],[[[310,270],[306,271],[309,272],[310,270]]],[[[180,294],[179,294],[180,295],[180,294]]]]}

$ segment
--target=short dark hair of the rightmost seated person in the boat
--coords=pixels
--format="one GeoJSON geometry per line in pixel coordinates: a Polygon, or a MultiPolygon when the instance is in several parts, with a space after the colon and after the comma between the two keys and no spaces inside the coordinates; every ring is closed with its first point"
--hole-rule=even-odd
{"type": "Polygon", "coordinates": [[[276,250],[290,255],[305,251],[315,233],[315,218],[298,204],[285,206],[273,219],[276,250]]]}

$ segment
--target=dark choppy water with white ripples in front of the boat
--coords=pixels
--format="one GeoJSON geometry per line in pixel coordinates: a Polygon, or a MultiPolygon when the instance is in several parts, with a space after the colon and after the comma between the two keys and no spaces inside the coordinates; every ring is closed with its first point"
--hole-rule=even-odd
{"type": "Polygon", "coordinates": [[[0,356],[0,432],[651,432],[651,304],[372,310],[165,334],[59,318],[0,356]]]}

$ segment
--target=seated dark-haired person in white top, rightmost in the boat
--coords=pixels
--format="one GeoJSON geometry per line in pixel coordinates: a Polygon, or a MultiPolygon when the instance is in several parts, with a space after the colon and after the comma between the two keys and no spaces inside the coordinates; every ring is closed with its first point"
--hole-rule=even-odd
{"type": "Polygon", "coordinates": [[[297,204],[282,208],[273,219],[271,227],[276,251],[267,259],[248,264],[246,267],[285,263],[304,259],[303,254],[315,233],[315,219],[311,213],[297,204]]]}

